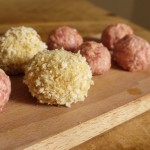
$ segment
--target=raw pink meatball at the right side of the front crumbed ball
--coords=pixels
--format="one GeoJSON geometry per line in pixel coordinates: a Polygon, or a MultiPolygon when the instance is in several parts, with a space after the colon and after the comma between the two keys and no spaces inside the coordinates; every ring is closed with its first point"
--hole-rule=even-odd
{"type": "Polygon", "coordinates": [[[80,53],[86,58],[93,75],[107,72],[111,67],[111,55],[106,47],[94,41],[84,42],[80,46],[80,53]]]}

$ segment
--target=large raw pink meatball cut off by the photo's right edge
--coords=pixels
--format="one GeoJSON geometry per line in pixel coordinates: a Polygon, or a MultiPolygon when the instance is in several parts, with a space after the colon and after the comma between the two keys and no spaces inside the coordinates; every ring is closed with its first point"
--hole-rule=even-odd
{"type": "Polygon", "coordinates": [[[113,60],[125,70],[145,70],[150,64],[150,45],[136,35],[127,35],[115,44],[113,60]]]}

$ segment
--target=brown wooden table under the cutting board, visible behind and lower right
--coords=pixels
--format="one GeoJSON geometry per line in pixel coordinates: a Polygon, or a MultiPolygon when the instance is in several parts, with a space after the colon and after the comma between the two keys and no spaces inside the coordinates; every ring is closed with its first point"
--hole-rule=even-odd
{"type": "MultiPolygon", "coordinates": [[[[76,27],[82,35],[100,33],[108,24],[124,22],[145,39],[150,33],[138,30],[137,25],[114,16],[87,0],[7,0],[0,1],[0,33],[13,25],[30,25],[42,32],[49,32],[59,25],[76,27]],[[49,27],[43,28],[42,25],[49,27]],[[40,25],[40,26],[39,26],[40,25]]],[[[46,37],[43,36],[46,40],[46,37]]],[[[149,40],[150,41],[150,40],[149,40]]],[[[149,150],[150,149],[150,111],[120,125],[111,131],[83,143],[73,150],[149,150]]]]}

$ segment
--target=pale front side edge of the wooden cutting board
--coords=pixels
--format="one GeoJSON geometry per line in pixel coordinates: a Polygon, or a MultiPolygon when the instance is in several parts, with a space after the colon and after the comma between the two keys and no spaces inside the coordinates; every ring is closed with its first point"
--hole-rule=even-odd
{"type": "Polygon", "coordinates": [[[149,109],[150,94],[147,94],[124,106],[29,146],[25,148],[25,150],[67,150],[112,129],[149,109]]]}

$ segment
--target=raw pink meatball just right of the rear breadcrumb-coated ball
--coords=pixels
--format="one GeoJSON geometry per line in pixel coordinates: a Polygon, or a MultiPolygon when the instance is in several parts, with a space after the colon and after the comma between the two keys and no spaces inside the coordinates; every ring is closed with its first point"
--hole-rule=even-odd
{"type": "Polygon", "coordinates": [[[83,43],[82,36],[74,28],[67,26],[59,27],[53,30],[48,38],[49,49],[60,49],[76,52],[83,43]]]}

